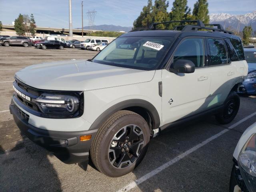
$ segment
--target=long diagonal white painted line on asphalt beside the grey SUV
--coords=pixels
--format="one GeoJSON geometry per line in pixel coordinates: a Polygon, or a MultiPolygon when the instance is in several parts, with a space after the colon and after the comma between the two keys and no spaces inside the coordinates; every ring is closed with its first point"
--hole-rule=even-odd
{"type": "Polygon", "coordinates": [[[161,172],[162,170],[168,168],[169,166],[171,166],[172,164],[178,162],[179,160],[181,160],[182,158],[188,156],[189,154],[191,154],[192,152],[198,150],[199,148],[201,148],[202,146],[208,144],[209,142],[211,142],[212,140],[218,138],[219,136],[223,135],[224,133],[228,132],[230,129],[233,129],[234,127],[238,126],[239,124],[241,124],[242,122],[248,120],[249,118],[251,118],[252,116],[256,115],[256,112],[250,114],[249,116],[243,118],[242,120],[232,124],[231,126],[229,126],[227,129],[224,129],[223,131],[219,132],[218,134],[204,140],[203,142],[201,142],[200,144],[197,144],[196,146],[190,148],[189,150],[185,151],[184,153],[180,154],[179,156],[173,158],[172,160],[168,161],[167,163],[163,164],[162,166],[152,170],[151,172],[149,172],[148,174],[142,176],[141,178],[138,178],[137,180],[131,182],[130,184],[126,185],[125,187],[121,188],[120,190],[118,190],[117,192],[127,192],[128,190],[131,190],[132,188],[138,186],[139,184],[141,184],[142,182],[148,180],[149,178],[153,177],[154,175],[158,174],[159,172],[161,172]]]}

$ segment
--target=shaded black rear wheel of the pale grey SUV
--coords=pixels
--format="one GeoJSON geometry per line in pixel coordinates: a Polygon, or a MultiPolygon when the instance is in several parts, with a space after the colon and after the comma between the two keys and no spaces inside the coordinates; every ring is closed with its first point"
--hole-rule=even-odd
{"type": "Polygon", "coordinates": [[[240,98],[237,93],[230,92],[224,102],[224,108],[215,115],[220,124],[230,123],[236,116],[240,107],[240,98]]]}

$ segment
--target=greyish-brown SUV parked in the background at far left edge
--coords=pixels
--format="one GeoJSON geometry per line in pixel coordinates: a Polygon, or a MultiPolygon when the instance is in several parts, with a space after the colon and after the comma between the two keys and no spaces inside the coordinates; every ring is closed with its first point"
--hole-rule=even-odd
{"type": "Polygon", "coordinates": [[[8,37],[4,40],[1,40],[0,42],[4,46],[10,46],[10,45],[23,45],[24,47],[27,47],[29,45],[32,45],[32,41],[28,37],[23,36],[12,36],[8,37]]]}

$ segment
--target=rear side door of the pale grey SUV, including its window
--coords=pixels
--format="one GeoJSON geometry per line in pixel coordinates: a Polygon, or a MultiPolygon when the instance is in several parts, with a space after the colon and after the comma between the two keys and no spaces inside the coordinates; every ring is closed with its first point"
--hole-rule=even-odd
{"type": "Polygon", "coordinates": [[[211,73],[209,107],[222,104],[236,82],[236,66],[231,63],[224,39],[207,38],[211,73]]]}

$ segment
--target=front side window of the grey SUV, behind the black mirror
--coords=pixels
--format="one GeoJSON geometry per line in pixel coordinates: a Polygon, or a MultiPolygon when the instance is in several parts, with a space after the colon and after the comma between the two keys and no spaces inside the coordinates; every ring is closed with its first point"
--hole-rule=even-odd
{"type": "Polygon", "coordinates": [[[190,60],[195,67],[204,66],[204,40],[202,38],[186,38],[174,52],[173,62],[190,60]]]}

